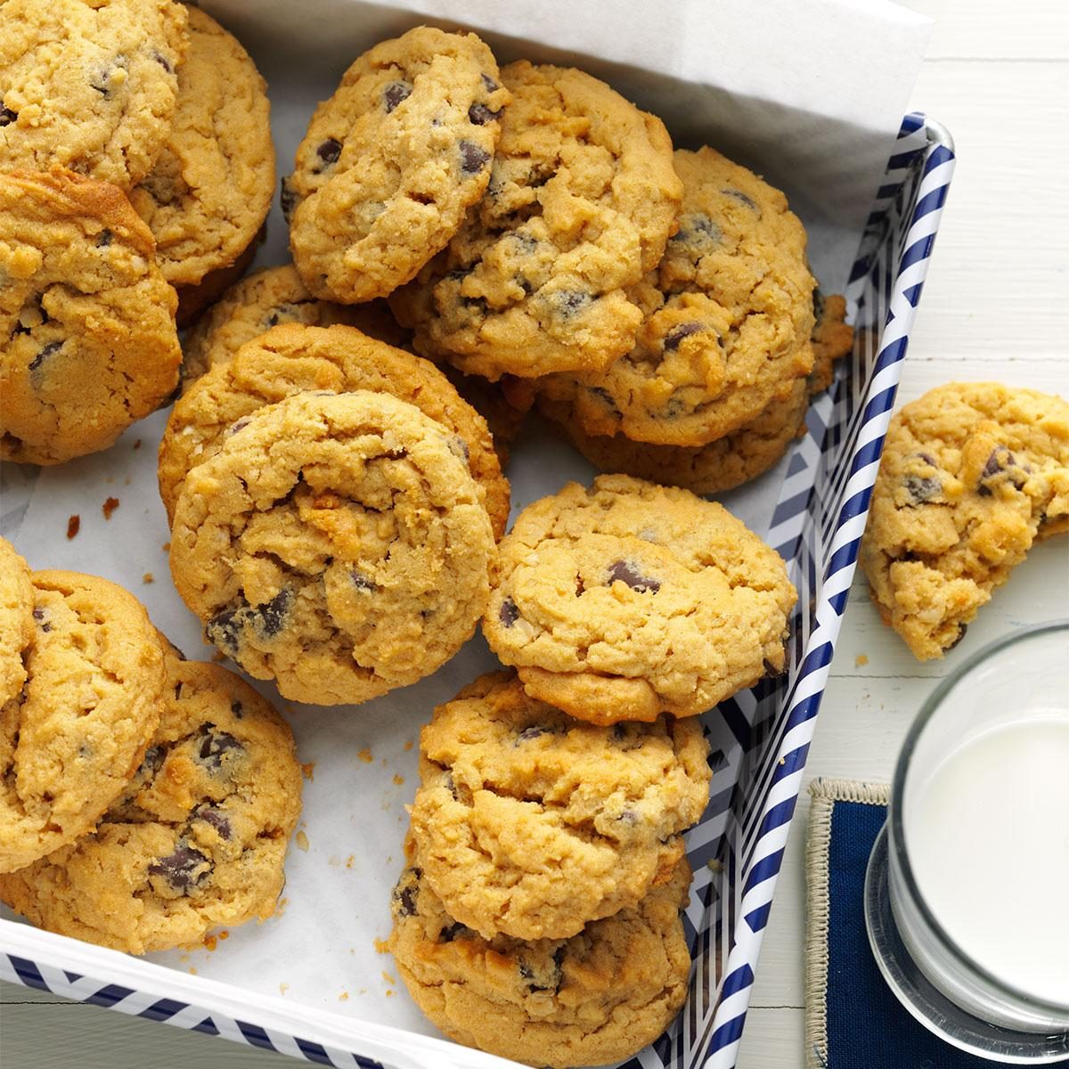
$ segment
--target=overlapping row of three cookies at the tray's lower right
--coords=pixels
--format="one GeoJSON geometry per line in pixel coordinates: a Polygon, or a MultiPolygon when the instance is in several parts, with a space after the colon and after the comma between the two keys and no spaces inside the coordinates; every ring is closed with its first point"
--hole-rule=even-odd
{"type": "Polygon", "coordinates": [[[423,728],[390,949],[461,1042],[616,1062],[686,995],[696,714],[784,669],[795,591],[721,506],[630,476],[525,509],[493,580],[483,634],[516,668],[423,728]]]}

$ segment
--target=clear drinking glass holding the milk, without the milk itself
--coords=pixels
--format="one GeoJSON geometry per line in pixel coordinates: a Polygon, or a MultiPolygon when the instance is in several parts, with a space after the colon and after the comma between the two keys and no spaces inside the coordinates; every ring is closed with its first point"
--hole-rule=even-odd
{"type": "MultiPolygon", "coordinates": [[[[1069,1004],[1051,1002],[994,975],[955,942],[921,894],[911,827],[916,838],[925,820],[925,789],[948,757],[1008,725],[1049,717],[1058,718],[1059,725],[1069,721],[1069,621],[994,642],[944,680],[902,746],[887,824],[873,850],[866,885],[870,942],[907,1008],[955,1045],[1021,1064],[1069,1056],[1069,1004]]],[[[991,845],[991,857],[994,879],[997,843],[991,845]]],[[[1069,924],[1069,887],[1065,896],[1069,924]]],[[[1013,938],[1012,916],[992,918],[992,924],[1004,926],[1006,938],[1013,938]]],[[[1065,967],[1069,970],[1069,961],[1065,967]]]]}

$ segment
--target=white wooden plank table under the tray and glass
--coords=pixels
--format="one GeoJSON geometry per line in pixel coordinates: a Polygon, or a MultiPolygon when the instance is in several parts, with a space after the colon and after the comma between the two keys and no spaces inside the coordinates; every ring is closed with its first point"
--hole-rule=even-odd
{"type": "MultiPolygon", "coordinates": [[[[861,0],[859,0],[861,2],[861,0]]],[[[995,378],[1069,397],[1069,9],[1062,0],[911,0],[939,19],[913,107],[959,164],[900,400],[995,378]]],[[[807,778],[889,778],[933,681],[1013,626],[1069,613],[1069,548],[1038,547],[945,661],[920,665],[854,586],[807,778]]],[[[794,818],[740,1069],[802,1069],[808,800],[794,818]]],[[[3,1069],[293,1065],[276,1055],[0,986],[3,1069]]],[[[429,1067],[431,1069],[431,1067],[429,1067]]]]}

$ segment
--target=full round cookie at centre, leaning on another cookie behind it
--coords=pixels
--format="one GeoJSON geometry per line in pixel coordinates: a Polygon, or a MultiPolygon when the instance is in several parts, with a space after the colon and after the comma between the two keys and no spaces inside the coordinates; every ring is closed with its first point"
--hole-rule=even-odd
{"type": "Polygon", "coordinates": [[[269,405],[186,478],[179,593],[208,641],[286,698],[358,702],[413,683],[486,604],[494,534],[464,453],[385,393],[269,405]]]}

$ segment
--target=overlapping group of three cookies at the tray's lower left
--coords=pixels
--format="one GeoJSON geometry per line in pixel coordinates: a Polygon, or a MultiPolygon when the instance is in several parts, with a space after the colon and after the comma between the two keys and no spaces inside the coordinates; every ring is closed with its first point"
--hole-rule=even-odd
{"type": "Polygon", "coordinates": [[[300,812],[285,722],[106,579],[0,539],[0,899],[131,954],[274,913],[300,812]]]}

